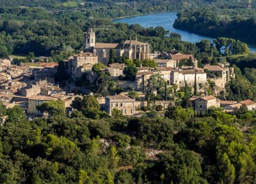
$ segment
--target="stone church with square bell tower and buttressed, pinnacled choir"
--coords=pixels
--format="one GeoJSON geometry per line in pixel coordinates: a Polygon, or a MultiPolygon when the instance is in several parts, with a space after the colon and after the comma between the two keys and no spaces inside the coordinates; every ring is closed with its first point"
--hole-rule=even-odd
{"type": "Polygon", "coordinates": [[[129,59],[150,59],[150,45],[135,40],[126,40],[123,44],[119,43],[96,43],[95,32],[89,29],[84,34],[83,52],[91,52],[98,56],[98,62],[105,65],[109,62],[110,49],[114,49],[116,57],[127,56],[129,59]]]}

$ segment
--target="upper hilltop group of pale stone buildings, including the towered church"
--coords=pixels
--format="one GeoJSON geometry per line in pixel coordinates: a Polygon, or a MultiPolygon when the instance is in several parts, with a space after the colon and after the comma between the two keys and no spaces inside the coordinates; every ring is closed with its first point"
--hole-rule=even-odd
{"type": "MultiPolygon", "coordinates": [[[[111,49],[114,49],[117,58],[126,56],[132,60],[152,59],[155,61],[157,66],[154,68],[137,67],[138,71],[133,85],[134,90],[143,90],[150,76],[156,73],[162,75],[167,85],[176,86],[175,89],[185,86],[185,82],[188,85],[194,85],[196,81],[198,86],[215,82],[218,91],[222,91],[230,79],[235,77],[234,68],[224,66],[224,64],[219,63],[219,66],[205,65],[203,68],[197,67],[198,63],[194,55],[182,54],[175,52],[175,50],[150,53],[150,45],[137,41],[137,37],[135,40],[126,40],[123,44],[97,43],[95,40],[95,33],[92,29],[89,29],[84,34],[83,52],[64,60],[66,71],[72,79],[86,73],[87,81],[93,83],[97,79],[97,75],[91,72],[91,68],[97,63],[108,65],[111,49]],[[179,67],[179,63],[184,59],[189,59],[193,66],[179,67]]],[[[105,72],[117,78],[123,75],[125,67],[124,63],[109,64],[105,68],[105,72]]]]}

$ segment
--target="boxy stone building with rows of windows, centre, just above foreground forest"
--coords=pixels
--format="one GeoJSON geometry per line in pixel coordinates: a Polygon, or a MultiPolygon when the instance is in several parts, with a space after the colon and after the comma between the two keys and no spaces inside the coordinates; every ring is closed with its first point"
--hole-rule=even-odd
{"type": "Polygon", "coordinates": [[[105,102],[106,112],[111,115],[114,108],[121,110],[123,115],[132,116],[135,114],[135,99],[124,95],[107,96],[105,102]]]}

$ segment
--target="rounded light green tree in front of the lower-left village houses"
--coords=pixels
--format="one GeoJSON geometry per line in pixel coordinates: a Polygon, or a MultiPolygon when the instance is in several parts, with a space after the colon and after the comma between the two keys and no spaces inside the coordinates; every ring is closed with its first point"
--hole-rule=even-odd
{"type": "Polygon", "coordinates": [[[65,104],[61,100],[51,100],[48,102],[42,102],[36,106],[40,112],[47,112],[49,116],[66,116],[65,104]]]}

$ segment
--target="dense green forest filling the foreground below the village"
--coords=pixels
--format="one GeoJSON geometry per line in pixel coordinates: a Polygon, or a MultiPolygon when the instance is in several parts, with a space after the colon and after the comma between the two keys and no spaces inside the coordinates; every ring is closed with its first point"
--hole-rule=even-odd
{"type": "Polygon", "coordinates": [[[169,106],[159,116],[101,112],[95,97],[75,99],[77,112],[49,101],[51,117],[28,121],[18,106],[0,126],[0,183],[253,183],[255,112],[198,115],[169,106]],[[246,126],[246,128],[244,128],[246,126]]]}

